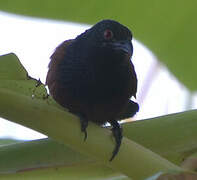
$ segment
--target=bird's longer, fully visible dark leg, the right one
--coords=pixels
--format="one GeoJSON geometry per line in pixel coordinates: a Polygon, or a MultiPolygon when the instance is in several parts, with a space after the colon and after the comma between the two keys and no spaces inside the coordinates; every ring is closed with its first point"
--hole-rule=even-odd
{"type": "Polygon", "coordinates": [[[120,127],[120,124],[116,120],[110,121],[110,124],[113,127],[112,128],[112,133],[113,133],[113,136],[114,136],[115,141],[116,141],[116,146],[115,146],[114,151],[112,153],[112,157],[109,160],[109,161],[112,161],[114,159],[114,157],[117,155],[117,153],[119,151],[119,148],[120,148],[120,145],[121,145],[122,129],[120,127]]]}

